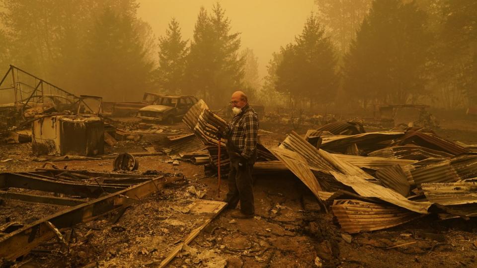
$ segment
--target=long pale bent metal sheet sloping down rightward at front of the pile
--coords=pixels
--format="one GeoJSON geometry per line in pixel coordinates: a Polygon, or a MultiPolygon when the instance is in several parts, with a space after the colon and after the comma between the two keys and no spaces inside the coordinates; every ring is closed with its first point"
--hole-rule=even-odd
{"type": "Polygon", "coordinates": [[[396,191],[374,184],[358,176],[349,176],[339,173],[333,173],[333,176],[340,183],[347,185],[358,193],[358,195],[368,198],[379,198],[408,210],[427,214],[427,209],[431,206],[430,202],[409,201],[396,191]]]}

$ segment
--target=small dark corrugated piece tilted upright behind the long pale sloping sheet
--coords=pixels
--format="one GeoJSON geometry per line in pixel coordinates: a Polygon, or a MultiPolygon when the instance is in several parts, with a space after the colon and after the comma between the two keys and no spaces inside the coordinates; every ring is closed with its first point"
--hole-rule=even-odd
{"type": "Polygon", "coordinates": [[[384,186],[393,189],[403,197],[407,197],[410,190],[410,184],[407,181],[406,174],[398,165],[390,166],[376,171],[376,177],[384,186]]]}

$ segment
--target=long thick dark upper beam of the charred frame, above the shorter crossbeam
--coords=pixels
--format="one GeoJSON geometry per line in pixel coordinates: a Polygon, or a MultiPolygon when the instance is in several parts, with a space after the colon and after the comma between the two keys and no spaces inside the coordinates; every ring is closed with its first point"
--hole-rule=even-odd
{"type": "Polygon", "coordinates": [[[112,186],[58,182],[19,173],[1,173],[0,189],[3,188],[22,188],[87,198],[97,198],[104,192],[115,193],[124,189],[112,186]]]}

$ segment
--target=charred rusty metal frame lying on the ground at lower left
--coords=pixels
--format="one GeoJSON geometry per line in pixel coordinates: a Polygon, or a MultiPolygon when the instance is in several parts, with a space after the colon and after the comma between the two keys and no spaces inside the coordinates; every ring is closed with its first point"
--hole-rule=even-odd
{"type": "Polygon", "coordinates": [[[73,207],[45,216],[0,237],[0,260],[14,261],[52,238],[62,240],[59,230],[124,209],[177,179],[178,177],[131,176],[54,169],[29,173],[1,173],[2,198],[73,207]],[[5,191],[8,188],[67,194],[82,199],[19,194],[5,191]],[[87,198],[92,200],[88,201],[87,198]]]}

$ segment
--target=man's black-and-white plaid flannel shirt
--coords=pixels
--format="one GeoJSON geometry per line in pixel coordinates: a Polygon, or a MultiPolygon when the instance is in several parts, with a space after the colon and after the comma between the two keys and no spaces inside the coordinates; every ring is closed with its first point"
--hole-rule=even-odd
{"type": "Polygon", "coordinates": [[[229,140],[239,149],[242,157],[249,159],[256,152],[258,142],[258,115],[248,105],[242,107],[229,124],[229,140]]]}

